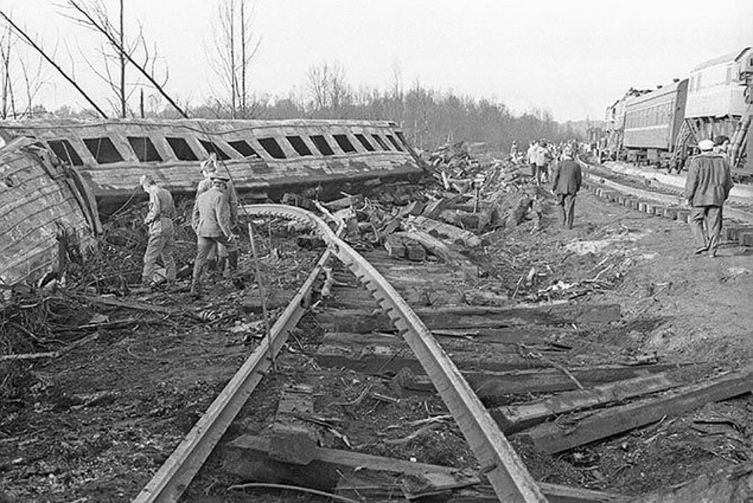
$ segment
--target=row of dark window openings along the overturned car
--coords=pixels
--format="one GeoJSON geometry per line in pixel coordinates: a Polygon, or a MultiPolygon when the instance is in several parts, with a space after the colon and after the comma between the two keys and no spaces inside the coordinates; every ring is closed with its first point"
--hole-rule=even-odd
{"type": "MultiPolygon", "coordinates": [[[[405,147],[407,147],[404,136],[401,132],[395,132],[395,135],[397,135],[397,139],[395,139],[395,136],[393,135],[370,134],[368,135],[370,138],[367,138],[367,135],[353,133],[353,137],[356,140],[355,142],[352,141],[347,134],[333,134],[332,138],[334,138],[337,147],[340,147],[340,150],[342,150],[343,153],[358,153],[356,144],[361,145],[361,148],[367,152],[380,150],[387,152],[394,150],[404,152],[405,147]]],[[[191,148],[191,145],[188,144],[186,138],[169,136],[164,138],[167,141],[170,150],[172,150],[172,153],[175,154],[175,159],[178,159],[179,161],[198,161],[200,159],[200,157],[197,156],[197,153],[191,148]]],[[[298,156],[316,155],[312,151],[311,146],[322,156],[336,155],[330,142],[325,138],[325,135],[309,135],[308,138],[311,142],[310,144],[306,144],[303,137],[297,135],[285,136],[285,141],[290,144],[298,156]]],[[[154,147],[151,138],[147,136],[127,136],[127,139],[130,147],[133,149],[133,153],[135,153],[136,158],[139,159],[139,162],[163,162],[164,159],[157,148],[154,147]]],[[[288,156],[285,155],[285,150],[279,144],[280,140],[282,140],[282,138],[256,138],[256,141],[258,141],[261,148],[264,149],[264,152],[272,159],[288,159],[288,156]]],[[[124,160],[112,140],[106,136],[101,138],[84,138],[83,141],[84,146],[87,147],[87,150],[89,150],[99,164],[122,162],[124,160]]],[[[231,156],[224,150],[224,147],[220,147],[214,141],[200,139],[199,143],[208,154],[215,153],[217,158],[221,160],[231,159],[231,156]]],[[[252,147],[248,141],[234,140],[226,141],[224,143],[239,153],[242,157],[261,158],[257,150],[252,147]]],[[[50,140],[47,141],[47,144],[60,159],[69,162],[71,165],[84,165],[81,156],[75,150],[70,141],[65,139],[50,140]]],[[[203,156],[204,154],[202,154],[202,157],[203,156]]]]}

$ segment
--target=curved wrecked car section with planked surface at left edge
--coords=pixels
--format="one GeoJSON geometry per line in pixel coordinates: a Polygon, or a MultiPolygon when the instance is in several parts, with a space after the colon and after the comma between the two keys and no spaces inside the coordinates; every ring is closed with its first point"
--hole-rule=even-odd
{"type": "Polygon", "coordinates": [[[75,168],[28,138],[0,148],[0,304],[14,285],[62,274],[100,230],[75,168]]]}

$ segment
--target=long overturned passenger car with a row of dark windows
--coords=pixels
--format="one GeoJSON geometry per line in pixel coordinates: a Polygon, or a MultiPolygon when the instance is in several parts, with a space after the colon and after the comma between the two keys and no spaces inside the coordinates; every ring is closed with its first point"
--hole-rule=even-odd
{"type": "Polygon", "coordinates": [[[212,153],[239,192],[271,198],[422,174],[421,159],[387,121],[29,120],[0,124],[0,135],[49,147],[81,171],[105,211],[138,193],[145,172],[173,194],[193,194],[212,153]]]}

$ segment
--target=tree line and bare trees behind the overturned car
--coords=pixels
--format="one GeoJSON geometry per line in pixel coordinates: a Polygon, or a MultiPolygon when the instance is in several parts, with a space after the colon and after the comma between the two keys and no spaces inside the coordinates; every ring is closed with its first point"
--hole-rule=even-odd
{"type": "MultiPolygon", "coordinates": [[[[251,8],[248,3],[248,0],[221,0],[219,3],[215,44],[208,50],[217,79],[210,86],[212,95],[199,105],[192,105],[187,100],[181,102],[168,95],[165,86],[169,72],[167,68],[156,68],[156,48],[151,52],[148,50],[143,32],[139,31],[130,43],[124,37],[122,0],[120,24],[110,23],[101,0],[88,4],[68,0],[69,8],[77,16],[75,20],[87,29],[99,32],[108,41],[109,53],[101,62],[107,69],[98,74],[106,76],[103,80],[111,89],[107,98],[108,109],[116,117],[389,120],[398,123],[410,144],[420,150],[468,141],[483,144],[485,150],[507,152],[513,141],[525,150],[529,142],[539,138],[559,143],[587,136],[586,129],[590,126],[587,121],[557,123],[552,114],[543,109],[514,114],[504,103],[431,89],[419,82],[403,89],[399,68],[393,68],[389,89],[354,89],[340,65],[320,62],[309,67],[300,89],[293,89],[284,96],[258,95],[251,90],[250,65],[258,52],[259,40],[250,27],[251,8]],[[145,79],[134,81],[130,77],[130,86],[127,86],[127,62],[145,79]],[[132,105],[133,102],[138,105],[132,105]]],[[[0,35],[0,117],[86,118],[107,114],[105,108],[99,108],[88,96],[85,97],[92,106],[82,110],[63,106],[56,111],[47,111],[34,104],[44,74],[38,69],[39,65],[34,67],[35,73],[31,73],[29,68],[32,65],[15,56],[13,44],[9,28],[0,35]],[[20,68],[22,77],[11,74],[14,66],[16,71],[20,68]],[[21,92],[22,89],[25,90],[21,92]],[[23,107],[16,103],[20,103],[17,97],[21,95],[26,98],[23,107]]],[[[90,66],[93,65],[90,62],[90,66]]],[[[65,77],[62,69],[57,69],[65,77]]]]}

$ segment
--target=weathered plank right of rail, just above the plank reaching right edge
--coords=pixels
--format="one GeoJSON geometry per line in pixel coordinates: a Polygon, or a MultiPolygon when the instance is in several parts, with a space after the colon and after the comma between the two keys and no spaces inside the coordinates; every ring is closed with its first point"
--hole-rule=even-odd
{"type": "MultiPolygon", "coordinates": [[[[711,370],[709,365],[700,365],[711,370]]],[[[526,405],[510,405],[489,410],[502,432],[515,433],[569,412],[581,411],[616,401],[648,395],[691,383],[698,374],[687,369],[634,377],[589,389],[562,392],[542,401],[526,405]]]]}

